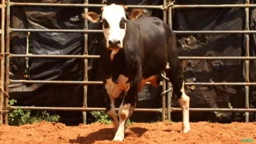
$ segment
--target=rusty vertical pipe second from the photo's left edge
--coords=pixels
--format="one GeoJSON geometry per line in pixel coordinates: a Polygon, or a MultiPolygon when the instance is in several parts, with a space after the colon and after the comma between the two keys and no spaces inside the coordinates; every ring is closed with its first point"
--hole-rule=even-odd
{"type": "MultiPolygon", "coordinates": [[[[6,3],[6,53],[8,53],[10,50],[10,5],[9,0],[7,0],[6,3]]],[[[6,55],[6,61],[5,61],[5,92],[9,94],[9,55],[6,55]]],[[[5,94],[5,100],[4,100],[4,108],[7,110],[8,107],[8,100],[9,97],[5,94]]],[[[8,114],[4,114],[4,124],[8,124],[8,114]]]]}

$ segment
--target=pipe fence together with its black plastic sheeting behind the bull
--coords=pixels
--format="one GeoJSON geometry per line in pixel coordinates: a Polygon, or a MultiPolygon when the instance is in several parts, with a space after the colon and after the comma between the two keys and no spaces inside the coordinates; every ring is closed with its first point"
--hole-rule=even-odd
{"type": "MultiPolygon", "coordinates": [[[[6,93],[1,92],[0,120],[7,122],[7,100],[12,98],[19,106],[33,105],[23,107],[26,109],[56,110],[61,122],[72,125],[93,120],[89,112],[81,110],[103,109],[90,108],[104,106],[97,66],[97,55],[104,47],[101,25],[87,23],[81,15],[84,10],[100,12],[102,1],[7,0],[1,16],[5,22],[1,26],[1,87],[5,85],[6,93]]],[[[145,7],[175,31],[186,90],[191,95],[191,121],[255,121],[254,0],[106,3],[128,4],[128,10],[145,7]],[[254,112],[244,114],[248,108],[254,112]]],[[[159,88],[145,86],[137,108],[151,108],[151,112],[135,112],[132,121],[181,120],[175,95],[161,96],[168,89],[167,83],[162,84],[159,88]]]]}

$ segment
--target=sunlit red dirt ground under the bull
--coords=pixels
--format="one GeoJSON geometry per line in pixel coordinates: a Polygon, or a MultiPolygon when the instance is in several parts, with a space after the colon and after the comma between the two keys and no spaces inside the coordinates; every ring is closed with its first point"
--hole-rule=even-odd
{"type": "Polygon", "coordinates": [[[256,122],[228,124],[191,122],[189,133],[180,132],[181,122],[132,123],[133,133],[112,142],[112,125],[102,123],[66,126],[40,122],[22,126],[0,125],[0,143],[256,143],[256,122]],[[247,139],[253,142],[243,142],[247,139]]]}

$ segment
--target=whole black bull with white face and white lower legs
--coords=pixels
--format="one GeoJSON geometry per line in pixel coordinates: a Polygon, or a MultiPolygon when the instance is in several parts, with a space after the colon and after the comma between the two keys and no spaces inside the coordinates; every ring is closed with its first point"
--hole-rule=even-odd
{"type": "Polygon", "coordinates": [[[184,92],[183,73],[173,31],[156,17],[127,20],[125,9],[123,5],[111,4],[102,7],[101,14],[84,14],[91,22],[102,22],[106,39],[106,48],[100,55],[100,68],[105,79],[106,111],[117,128],[113,140],[123,140],[127,130],[125,123],[136,106],[138,92],[146,81],[157,86],[162,70],[165,70],[172,83],[173,93],[179,98],[182,130],[188,132],[189,97],[184,92]],[[121,92],[124,92],[124,98],[118,109],[118,121],[114,98],[121,92]]]}

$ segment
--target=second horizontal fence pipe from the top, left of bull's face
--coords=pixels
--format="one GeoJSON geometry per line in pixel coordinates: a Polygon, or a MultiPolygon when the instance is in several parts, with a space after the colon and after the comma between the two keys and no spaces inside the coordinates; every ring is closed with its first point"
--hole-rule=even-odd
{"type": "Polygon", "coordinates": [[[18,29],[9,28],[9,32],[85,32],[85,33],[101,33],[98,29],[18,29]]]}

